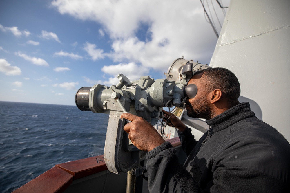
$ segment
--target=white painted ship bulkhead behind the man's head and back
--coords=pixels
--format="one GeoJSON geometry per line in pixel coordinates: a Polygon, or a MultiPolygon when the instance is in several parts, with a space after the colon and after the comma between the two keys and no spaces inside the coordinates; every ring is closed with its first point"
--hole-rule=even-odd
{"type": "Polygon", "coordinates": [[[240,102],[290,141],[290,1],[232,0],[210,62],[238,77],[240,102]]]}

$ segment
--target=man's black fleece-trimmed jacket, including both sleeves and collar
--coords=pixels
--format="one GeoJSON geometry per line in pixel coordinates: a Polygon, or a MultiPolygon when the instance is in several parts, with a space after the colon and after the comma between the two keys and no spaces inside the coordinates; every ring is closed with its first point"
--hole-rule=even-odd
{"type": "Polygon", "coordinates": [[[206,123],[199,141],[190,128],[179,132],[184,166],[169,142],[147,153],[150,192],[289,192],[290,145],[248,102],[206,123]]]}

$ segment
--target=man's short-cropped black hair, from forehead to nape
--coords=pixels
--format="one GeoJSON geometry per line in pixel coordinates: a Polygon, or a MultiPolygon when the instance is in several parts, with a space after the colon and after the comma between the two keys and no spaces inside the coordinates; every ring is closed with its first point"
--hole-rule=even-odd
{"type": "Polygon", "coordinates": [[[204,78],[206,79],[203,82],[207,87],[206,89],[209,91],[220,89],[231,104],[236,105],[239,103],[238,98],[241,94],[241,87],[234,73],[225,68],[208,68],[198,71],[198,73],[201,72],[204,73],[204,78]]]}

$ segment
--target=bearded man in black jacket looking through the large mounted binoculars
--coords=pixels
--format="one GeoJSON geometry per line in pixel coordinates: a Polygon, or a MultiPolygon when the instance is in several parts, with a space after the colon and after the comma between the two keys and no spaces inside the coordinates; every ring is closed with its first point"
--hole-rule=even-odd
{"type": "MultiPolygon", "coordinates": [[[[188,158],[178,164],[175,148],[144,119],[124,113],[129,139],[148,151],[150,192],[289,192],[290,145],[277,130],[255,117],[248,102],[239,103],[240,84],[224,68],[199,71],[189,80],[197,93],[186,100],[190,117],[211,127],[199,141],[176,117],[188,158]]],[[[189,94],[187,94],[189,95],[189,94]]],[[[169,113],[165,113],[165,118],[169,113]]]]}

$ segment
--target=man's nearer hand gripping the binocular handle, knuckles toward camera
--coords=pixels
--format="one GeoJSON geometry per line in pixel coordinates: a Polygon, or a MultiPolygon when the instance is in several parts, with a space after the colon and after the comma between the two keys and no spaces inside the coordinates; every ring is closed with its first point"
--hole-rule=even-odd
{"type": "Polygon", "coordinates": [[[124,131],[139,150],[151,151],[165,142],[157,130],[143,118],[130,113],[123,113],[121,118],[132,121],[124,126],[124,131]]]}

